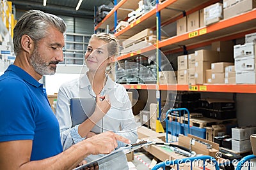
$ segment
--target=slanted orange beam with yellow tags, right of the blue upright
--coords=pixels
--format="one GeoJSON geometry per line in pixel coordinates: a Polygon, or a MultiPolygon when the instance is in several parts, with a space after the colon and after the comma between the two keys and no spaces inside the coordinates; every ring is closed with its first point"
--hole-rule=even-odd
{"type": "MultiPolygon", "coordinates": [[[[247,13],[244,13],[243,15],[238,15],[237,17],[228,18],[227,20],[221,20],[220,22],[218,22],[216,24],[209,25],[208,27],[203,27],[202,29],[198,29],[197,31],[198,32],[201,32],[201,31],[205,32],[203,30],[206,29],[207,32],[205,34],[207,34],[207,33],[210,33],[210,32],[225,29],[227,27],[232,27],[233,25],[238,25],[238,24],[241,24],[243,22],[253,20],[255,18],[256,18],[256,10],[252,10],[252,11],[249,11],[247,13]]],[[[159,48],[161,48],[163,46],[173,44],[173,43],[178,43],[178,42],[184,41],[186,39],[189,39],[189,34],[191,34],[193,32],[195,32],[195,31],[191,31],[191,32],[188,32],[186,34],[182,34],[180,36],[174,36],[174,37],[169,38],[169,39],[164,39],[163,41],[159,42],[159,48]]],[[[198,36],[200,36],[200,33],[198,33],[198,34],[199,34],[198,36]]],[[[195,36],[195,37],[198,37],[198,36],[195,36]]],[[[195,37],[193,37],[193,38],[195,38],[195,37]]]]}

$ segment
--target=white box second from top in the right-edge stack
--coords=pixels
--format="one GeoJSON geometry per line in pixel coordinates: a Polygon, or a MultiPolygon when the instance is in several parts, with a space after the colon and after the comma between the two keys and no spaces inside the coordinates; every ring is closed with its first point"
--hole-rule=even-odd
{"type": "Polygon", "coordinates": [[[234,46],[234,59],[239,57],[255,57],[256,46],[255,43],[245,43],[244,45],[234,46]]]}

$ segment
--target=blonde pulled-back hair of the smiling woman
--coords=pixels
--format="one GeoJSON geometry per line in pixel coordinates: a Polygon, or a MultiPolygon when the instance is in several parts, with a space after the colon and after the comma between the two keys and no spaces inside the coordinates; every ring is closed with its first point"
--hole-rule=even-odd
{"type": "Polygon", "coordinates": [[[116,38],[116,36],[114,36],[113,34],[107,34],[105,32],[98,32],[97,34],[92,34],[90,41],[93,38],[97,38],[97,39],[100,39],[100,40],[108,43],[109,57],[111,57],[113,55],[116,57],[116,55],[118,55],[119,43],[118,43],[118,39],[116,38]]]}

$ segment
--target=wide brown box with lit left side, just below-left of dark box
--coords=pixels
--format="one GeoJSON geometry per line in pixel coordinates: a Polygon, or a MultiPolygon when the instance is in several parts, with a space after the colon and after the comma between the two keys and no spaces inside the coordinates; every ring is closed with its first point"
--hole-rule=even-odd
{"type": "Polygon", "coordinates": [[[211,50],[198,50],[195,51],[196,61],[209,61],[209,62],[218,62],[219,53],[211,50]]]}

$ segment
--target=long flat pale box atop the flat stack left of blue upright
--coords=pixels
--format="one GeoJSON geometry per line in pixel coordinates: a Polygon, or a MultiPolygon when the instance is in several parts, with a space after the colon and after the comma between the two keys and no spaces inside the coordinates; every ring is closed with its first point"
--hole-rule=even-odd
{"type": "Polygon", "coordinates": [[[124,46],[124,48],[126,48],[127,46],[134,43],[134,41],[138,41],[142,38],[145,38],[146,36],[152,35],[153,32],[154,31],[152,29],[144,29],[143,31],[139,32],[138,34],[135,34],[134,36],[131,36],[129,39],[125,39],[122,42],[122,45],[124,46]]]}

